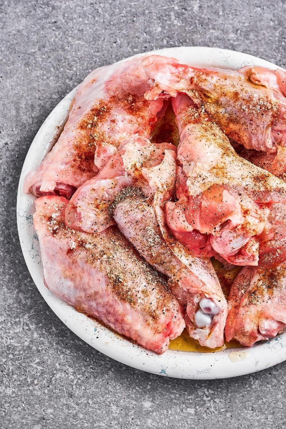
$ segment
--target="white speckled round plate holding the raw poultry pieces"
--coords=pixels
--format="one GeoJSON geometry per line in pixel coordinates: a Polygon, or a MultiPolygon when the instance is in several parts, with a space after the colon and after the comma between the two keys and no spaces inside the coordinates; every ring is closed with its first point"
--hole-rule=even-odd
{"type": "MultiPolygon", "coordinates": [[[[172,56],[193,66],[238,69],[247,64],[258,64],[277,68],[260,58],[218,48],[166,48],[150,54],[172,56]]],[[[44,286],[39,242],[33,227],[34,197],[23,194],[23,182],[26,174],[37,168],[50,151],[66,121],[74,95],[75,89],[54,108],[42,124],[27,153],[18,187],[17,221],[22,251],[33,281],[51,309],[69,329],[92,347],[119,362],[154,374],[192,379],[227,378],[260,371],[286,360],[286,332],[252,348],[226,349],[217,353],[167,350],[158,356],[78,313],[44,286]]]]}

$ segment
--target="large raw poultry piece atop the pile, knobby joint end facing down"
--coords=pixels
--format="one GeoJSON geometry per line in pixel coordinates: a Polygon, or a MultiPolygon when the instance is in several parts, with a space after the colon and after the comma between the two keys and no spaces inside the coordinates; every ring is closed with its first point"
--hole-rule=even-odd
{"type": "Polygon", "coordinates": [[[257,265],[257,236],[265,229],[271,203],[286,200],[285,183],[240,158],[203,106],[187,95],[172,99],[180,131],[177,202],[167,202],[172,233],[196,254],[206,234],[211,249],[229,263],[257,265]]]}

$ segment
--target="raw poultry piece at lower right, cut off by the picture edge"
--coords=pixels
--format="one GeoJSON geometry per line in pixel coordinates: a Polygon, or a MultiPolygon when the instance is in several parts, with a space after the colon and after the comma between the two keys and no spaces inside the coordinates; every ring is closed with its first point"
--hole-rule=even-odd
{"type": "Polygon", "coordinates": [[[280,257],[279,251],[265,254],[259,267],[244,267],[238,274],[228,298],[227,341],[252,346],[286,327],[286,262],[277,263],[280,257]]]}

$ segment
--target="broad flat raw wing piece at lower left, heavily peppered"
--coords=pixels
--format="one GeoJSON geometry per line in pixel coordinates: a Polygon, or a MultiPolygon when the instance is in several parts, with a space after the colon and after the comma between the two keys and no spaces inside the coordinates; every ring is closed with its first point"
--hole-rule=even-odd
{"type": "Polygon", "coordinates": [[[67,203],[58,196],[35,202],[34,225],[46,286],[78,311],[163,353],[185,325],[165,278],[138,255],[117,227],[100,234],[67,228],[67,203]]]}

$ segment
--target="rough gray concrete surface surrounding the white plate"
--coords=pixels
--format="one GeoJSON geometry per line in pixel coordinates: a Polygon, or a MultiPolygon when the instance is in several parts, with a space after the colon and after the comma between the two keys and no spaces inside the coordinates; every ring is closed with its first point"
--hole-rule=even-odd
{"type": "Polygon", "coordinates": [[[44,302],[18,242],[16,191],[36,131],[95,66],[206,45],[286,66],[286,3],[0,0],[0,428],[282,428],[286,363],[181,381],[109,359],[44,302]]]}

